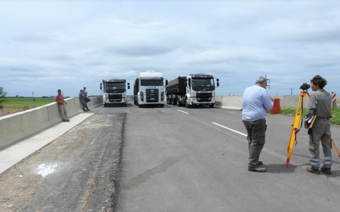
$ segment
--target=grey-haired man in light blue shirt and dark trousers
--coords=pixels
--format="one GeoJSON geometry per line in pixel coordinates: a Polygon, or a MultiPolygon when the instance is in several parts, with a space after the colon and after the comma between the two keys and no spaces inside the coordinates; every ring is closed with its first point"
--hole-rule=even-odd
{"type": "Polygon", "coordinates": [[[267,93],[267,79],[259,77],[255,85],[245,89],[243,94],[242,119],[248,136],[249,164],[248,171],[266,172],[259,161],[265,144],[267,110],[273,108],[274,98],[267,93]]]}

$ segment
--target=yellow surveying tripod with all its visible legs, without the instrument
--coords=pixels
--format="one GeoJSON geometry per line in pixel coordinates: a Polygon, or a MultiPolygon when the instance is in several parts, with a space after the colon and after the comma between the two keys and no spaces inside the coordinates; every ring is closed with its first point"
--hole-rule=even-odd
{"type": "MultiPolygon", "coordinates": [[[[292,156],[294,141],[296,141],[295,145],[297,144],[296,134],[297,134],[297,132],[300,131],[300,129],[299,129],[300,120],[301,120],[300,128],[302,127],[303,120],[301,118],[302,118],[302,111],[303,111],[303,103],[305,102],[306,94],[308,95],[308,97],[310,97],[308,91],[301,91],[299,102],[297,102],[297,108],[296,108],[296,113],[295,113],[295,117],[294,117],[294,122],[292,124],[293,129],[292,129],[292,133],[290,135],[290,140],[289,140],[288,148],[287,148],[288,154],[287,154],[286,166],[289,165],[290,157],[292,156]],[[300,103],[301,103],[301,108],[300,108],[300,103]]],[[[330,138],[330,140],[331,140],[331,142],[332,142],[332,144],[333,144],[333,146],[334,146],[335,150],[337,151],[338,156],[340,158],[340,153],[338,151],[338,148],[335,146],[333,139],[330,138]]]]}

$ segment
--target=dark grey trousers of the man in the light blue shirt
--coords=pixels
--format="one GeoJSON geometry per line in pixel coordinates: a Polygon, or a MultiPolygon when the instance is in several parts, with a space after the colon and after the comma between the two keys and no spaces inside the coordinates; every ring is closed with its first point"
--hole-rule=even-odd
{"type": "Polygon", "coordinates": [[[255,121],[244,121],[243,124],[247,130],[248,147],[249,147],[249,164],[248,168],[256,168],[261,150],[266,141],[266,119],[255,121]]]}

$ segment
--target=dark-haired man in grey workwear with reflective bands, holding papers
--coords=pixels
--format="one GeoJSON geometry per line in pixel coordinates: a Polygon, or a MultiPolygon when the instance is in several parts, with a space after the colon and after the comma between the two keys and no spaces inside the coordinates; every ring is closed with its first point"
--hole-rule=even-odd
{"type": "Polygon", "coordinates": [[[326,84],[326,79],[320,75],[316,75],[310,80],[310,87],[312,88],[312,91],[315,92],[309,97],[308,111],[305,117],[305,128],[308,129],[308,120],[313,115],[316,115],[317,117],[311,128],[311,134],[309,135],[308,149],[310,151],[309,162],[311,166],[307,167],[306,170],[314,174],[320,174],[320,140],[323,154],[325,156],[321,171],[326,174],[331,174],[332,143],[330,140],[331,134],[329,118],[332,117],[330,114],[332,98],[330,94],[323,89],[326,84]]]}

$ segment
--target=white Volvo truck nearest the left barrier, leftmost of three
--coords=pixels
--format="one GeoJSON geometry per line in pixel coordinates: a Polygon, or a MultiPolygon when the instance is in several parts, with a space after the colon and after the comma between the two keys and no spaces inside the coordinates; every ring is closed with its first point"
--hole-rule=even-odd
{"type": "Polygon", "coordinates": [[[126,91],[130,89],[130,83],[128,82],[128,89],[126,89],[125,83],[125,79],[108,79],[100,83],[100,90],[102,90],[102,85],[104,86],[103,102],[105,108],[108,105],[123,105],[124,107],[128,105],[126,91]]]}

